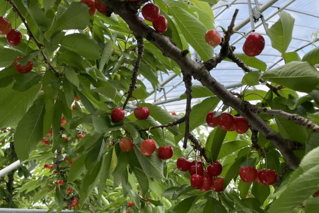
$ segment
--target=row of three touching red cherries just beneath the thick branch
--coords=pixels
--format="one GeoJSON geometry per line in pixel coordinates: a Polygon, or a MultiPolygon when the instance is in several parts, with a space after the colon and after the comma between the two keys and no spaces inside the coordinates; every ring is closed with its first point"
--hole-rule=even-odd
{"type": "Polygon", "coordinates": [[[228,112],[214,117],[214,112],[210,111],[206,115],[206,123],[208,126],[219,126],[222,130],[236,131],[239,134],[246,133],[249,129],[249,123],[244,117],[234,117],[228,112]]]}

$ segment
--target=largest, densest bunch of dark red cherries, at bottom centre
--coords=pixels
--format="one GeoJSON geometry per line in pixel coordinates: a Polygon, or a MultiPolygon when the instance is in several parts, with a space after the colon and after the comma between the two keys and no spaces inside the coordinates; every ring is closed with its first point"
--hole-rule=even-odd
{"type": "Polygon", "coordinates": [[[179,157],[176,162],[177,168],[181,171],[189,171],[190,185],[194,189],[200,189],[207,192],[212,188],[215,192],[223,191],[223,177],[217,177],[221,174],[223,168],[218,161],[214,161],[207,169],[203,168],[203,163],[198,161],[189,161],[184,157],[179,157]]]}

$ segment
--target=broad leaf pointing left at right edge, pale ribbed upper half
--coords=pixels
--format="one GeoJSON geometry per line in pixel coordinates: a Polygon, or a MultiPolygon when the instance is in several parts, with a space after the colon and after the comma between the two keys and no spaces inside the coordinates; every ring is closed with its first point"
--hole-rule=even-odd
{"type": "Polygon", "coordinates": [[[319,81],[319,72],[308,62],[293,61],[263,74],[263,79],[300,92],[311,92],[319,81]]]}

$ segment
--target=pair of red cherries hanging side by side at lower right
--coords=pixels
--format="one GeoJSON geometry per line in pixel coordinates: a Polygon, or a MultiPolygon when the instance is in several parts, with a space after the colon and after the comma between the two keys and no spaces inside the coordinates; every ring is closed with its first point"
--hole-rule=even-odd
{"type": "Polygon", "coordinates": [[[254,181],[263,185],[272,185],[276,182],[277,174],[273,169],[257,170],[255,167],[242,166],[239,170],[240,178],[246,183],[254,181]]]}

